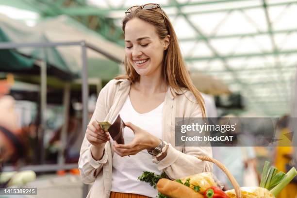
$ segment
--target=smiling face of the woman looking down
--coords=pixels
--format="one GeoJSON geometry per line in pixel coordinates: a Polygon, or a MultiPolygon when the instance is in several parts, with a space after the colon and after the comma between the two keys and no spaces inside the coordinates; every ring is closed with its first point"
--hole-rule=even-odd
{"type": "Polygon", "coordinates": [[[125,27],[127,60],[139,75],[155,75],[162,69],[164,50],[169,45],[169,36],[160,40],[153,25],[133,18],[125,27]]]}

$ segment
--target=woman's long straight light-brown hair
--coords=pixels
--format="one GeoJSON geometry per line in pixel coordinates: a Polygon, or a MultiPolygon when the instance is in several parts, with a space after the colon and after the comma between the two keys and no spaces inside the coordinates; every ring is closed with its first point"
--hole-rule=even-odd
{"type": "MultiPolygon", "coordinates": [[[[125,16],[123,19],[122,30],[125,34],[125,27],[129,20],[132,18],[139,18],[155,26],[156,32],[160,39],[164,39],[166,35],[169,37],[169,46],[164,51],[163,56],[163,69],[162,76],[166,84],[174,89],[185,88],[191,91],[200,105],[203,117],[206,116],[204,99],[199,93],[198,89],[194,86],[189,73],[185,67],[184,61],[181,56],[181,50],[178,44],[176,33],[173,29],[171,22],[165,12],[161,11],[161,8],[145,10],[137,8],[131,13],[125,16]],[[164,16],[163,16],[164,13],[164,16]],[[165,21],[164,21],[165,20],[165,21]]],[[[133,66],[127,61],[125,57],[124,66],[126,69],[126,75],[120,75],[115,79],[129,79],[131,83],[138,82],[140,75],[135,71],[133,66]]]]}

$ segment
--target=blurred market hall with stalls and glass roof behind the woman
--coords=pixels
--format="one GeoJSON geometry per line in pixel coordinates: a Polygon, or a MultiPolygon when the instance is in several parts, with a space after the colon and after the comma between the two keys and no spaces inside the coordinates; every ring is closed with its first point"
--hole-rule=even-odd
{"type": "MultiPolygon", "coordinates": [[[[135,3],[0,0],[0,184],[12,171],[31,170],[13,184],[37,187],[37,197],[81,198],[88,191],[76,169],[83,129],[100,89],[124,71],[121,20],[135,3]]],[[[174,25],[209,117],[282,117],[279,135],[294,130],[287,119],[297,117],[296,0],[154,3],[174,25]]],[[[250,153],[239,164],[258,173],[264,160],[283,171],[293,163],[292,147],[250,153]]]]}

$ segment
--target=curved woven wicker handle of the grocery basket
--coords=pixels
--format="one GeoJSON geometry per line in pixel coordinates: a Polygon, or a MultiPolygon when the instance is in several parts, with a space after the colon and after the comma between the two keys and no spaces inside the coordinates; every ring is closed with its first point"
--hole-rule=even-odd
{"type": "Polygon", "coordinates": [[[235,178],[233,177],[233,175],[231,174],[231,172],[226,168],[225,165],[223,165],[222,163],[220,163],[219,161],[217,161],[216,159],[213,159],[213,158],[210,158],[208,156],[198,156],[197,157],[199,160],[202,160],[202,161],[208,161],[208,162],[212,162],[214,163],[215,165],[217,165],[220,169],[222,169],[222,171],[227,175],[227,177],[229,178],[229,180],[231,181],[233,187],[234,187],[234,190],[235,190],[235,194],[236,194],[236,197],[237,198],[243,198],[242,197],[242,194],[241,194],[241,191],[240,191],[240,186],[239,184],[237,183],[237,181],[235,180],[235,178]]]}

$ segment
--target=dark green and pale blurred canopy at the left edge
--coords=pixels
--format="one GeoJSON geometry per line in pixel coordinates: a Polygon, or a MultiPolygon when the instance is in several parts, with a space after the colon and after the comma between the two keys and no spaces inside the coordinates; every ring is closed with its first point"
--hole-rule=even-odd
{"type": "MultiPolygon", "coordinates": [[[[0,15],[0,41],[2,42],[49,42],[49,40],[37,29],[26,26],[25,24],[0,15]]],[[[34,60],[45,60],[49,70],[52,68],[60,70],[70,76],[76,73],[66,65],[64,58],[55,48],[17,48],[0,50],[1,71],[23,71],[32,69],[34,60]],[[27,57],[20,56],[23,54],[27,57]]],[[[63,75],[65,76],[65,75],[63,75]]]]}

